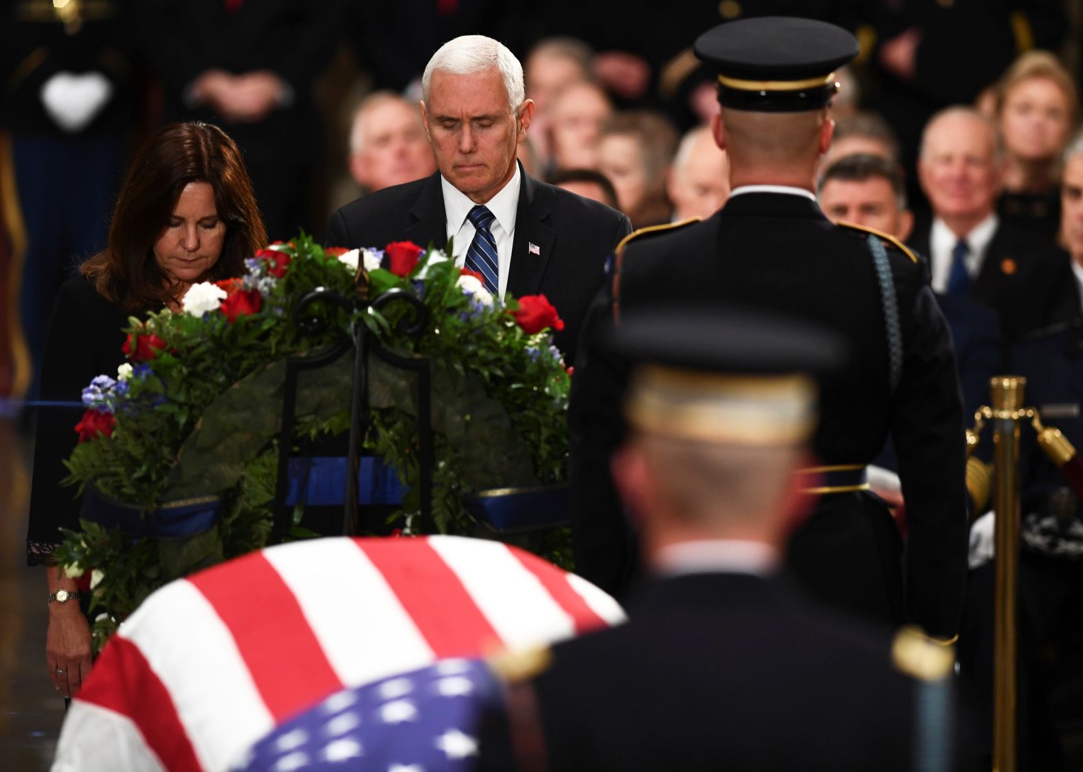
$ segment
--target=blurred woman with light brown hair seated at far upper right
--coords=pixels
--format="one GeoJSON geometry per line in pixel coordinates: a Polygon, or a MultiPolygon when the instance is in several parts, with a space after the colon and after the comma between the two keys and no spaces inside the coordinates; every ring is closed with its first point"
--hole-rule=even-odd
{"type": "Polygon", "coordinates": [[[1005,151],[997,210],[1051,243],[1060,224],[1060,156],[1078,113],[1075,84],[1048,51],[1017,58],[995,90],[1005,151]]]}

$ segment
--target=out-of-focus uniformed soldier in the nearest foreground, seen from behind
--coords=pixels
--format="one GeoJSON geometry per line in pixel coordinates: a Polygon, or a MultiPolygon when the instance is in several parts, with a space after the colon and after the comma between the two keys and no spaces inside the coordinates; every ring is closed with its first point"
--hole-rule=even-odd
{"type": "Polygon", "coordinates": [[[557,644],[511,686],[518,763],[494,731],[480,769],[953,769],[950,649],[836,617],[780,575],[810,502],[811,374],[838,366],[841,339],[658,309],[612,344],[635,367],[614,477],[652,580],[627,624],[557,644]]]}

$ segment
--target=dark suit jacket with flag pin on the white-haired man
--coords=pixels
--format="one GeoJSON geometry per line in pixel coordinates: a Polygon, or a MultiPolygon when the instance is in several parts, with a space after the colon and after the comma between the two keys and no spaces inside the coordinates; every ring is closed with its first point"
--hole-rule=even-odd
{"type": "MultiPolygon", "coordinates": [[[[507,291],[549,299],[564,320],[553,340],[572,364],[587,306],[604,279],[605,259],[631,223],[618,211],[520,172],[507,291]],[[531,254],[530,244],[540,254],[531,254]]],[[[327,226],[327,244],[351,249],[404,240],[443,248],[446,237],[440,172],[358,198],[335,212],[327,226]]]]}

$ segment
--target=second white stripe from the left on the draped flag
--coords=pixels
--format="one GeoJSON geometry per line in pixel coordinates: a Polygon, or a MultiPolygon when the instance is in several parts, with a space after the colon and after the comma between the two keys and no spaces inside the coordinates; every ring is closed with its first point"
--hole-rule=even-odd
{"type": "Polygon", "coordinates": [[[118,634],[161,679],[208,772],[225,770],[274,728],[229,628],[186,579],[152,594],[118,634]]]}

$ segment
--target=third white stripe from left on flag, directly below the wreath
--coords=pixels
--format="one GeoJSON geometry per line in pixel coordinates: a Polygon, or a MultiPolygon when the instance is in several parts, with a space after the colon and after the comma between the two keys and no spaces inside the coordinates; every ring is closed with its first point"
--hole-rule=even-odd
{"type": "Polygon", "coordinates": [[[339,679],[357,686],[433,662],[409,614],[352,539],[312,539],[263,552],[293,592],[339,679]]]}

